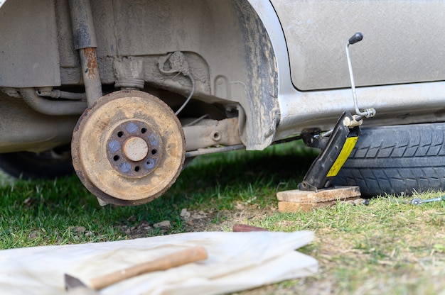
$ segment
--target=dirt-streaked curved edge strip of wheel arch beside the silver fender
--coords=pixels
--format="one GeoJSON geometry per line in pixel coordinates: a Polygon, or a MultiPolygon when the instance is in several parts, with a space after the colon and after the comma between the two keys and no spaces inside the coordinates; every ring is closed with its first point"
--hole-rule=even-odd
{"type": "Polygon", "coordinates": [[[243,57],[247,64],[247,84],[251,92],[241,104],[246,111],[247,149],[262,150],[272,143],[279,123],[278,67],[271,39],[254,7],[247,1],[232,1],[237,11],[242,38],[243,57]],[[250,70],[249,70],[250,69],[250,70]]]}

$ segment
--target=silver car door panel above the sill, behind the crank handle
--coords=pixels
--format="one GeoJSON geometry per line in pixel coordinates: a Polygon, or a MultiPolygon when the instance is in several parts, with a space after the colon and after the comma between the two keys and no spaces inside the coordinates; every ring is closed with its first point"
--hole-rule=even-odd
{"type": "Polygon", "coordinates": [[[350,87],[345,43],[358,86],[445,79],[445,1],[272,0],[301,91],[350,87]]]}

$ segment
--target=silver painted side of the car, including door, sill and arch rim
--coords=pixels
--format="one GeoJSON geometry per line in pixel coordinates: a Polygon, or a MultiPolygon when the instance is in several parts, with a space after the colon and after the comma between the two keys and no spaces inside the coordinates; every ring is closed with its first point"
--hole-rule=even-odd
{"type": "Polygon", "coordinates": [[[252,2],[277,56],[280,136],[353,111],[344,43],[355,31],[359,104],[377,109],[367,124],[444,120],[443,1],[252,2]]]}

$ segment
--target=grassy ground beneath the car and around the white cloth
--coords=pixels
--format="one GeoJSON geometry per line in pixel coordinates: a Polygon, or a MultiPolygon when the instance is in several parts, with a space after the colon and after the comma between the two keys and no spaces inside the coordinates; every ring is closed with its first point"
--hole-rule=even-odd
{"type": "Polygon", "coordinates": [[[409,204],[442,193],[279,213],[277,191],[295,189],[314,157],[298,143],[207,155],[192,162],[165,195],[136,207],[100,207],[74,176],[6,183],[0,189],[0,248],[180,233],[193,230],[180,216],[187,208],[208,214],[200,230],[231,230],[242,222],[315,233],[313,243],[300,249],[318,260],[315,276],[242,294],[444,294],[445,202],[409,204]],[[150,227],[166,220],[171,228],[150,227]],[[137,231],[141,224],[148,229],[137,231]]]}

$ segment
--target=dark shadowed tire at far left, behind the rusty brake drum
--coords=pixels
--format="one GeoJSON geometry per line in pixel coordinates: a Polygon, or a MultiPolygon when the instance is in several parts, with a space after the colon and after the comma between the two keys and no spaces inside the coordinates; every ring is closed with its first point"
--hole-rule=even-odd
{"type": "Polygon", "coordinates": [[[46,152],[9,152],[0,154],[0,169],[20,179],[55,179],[74,173],[70,147],[46,152]]]}

